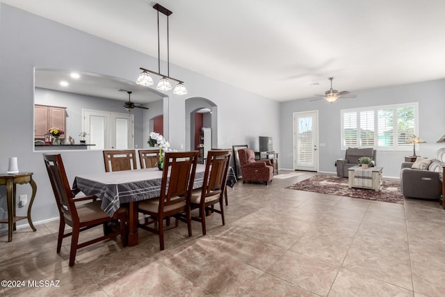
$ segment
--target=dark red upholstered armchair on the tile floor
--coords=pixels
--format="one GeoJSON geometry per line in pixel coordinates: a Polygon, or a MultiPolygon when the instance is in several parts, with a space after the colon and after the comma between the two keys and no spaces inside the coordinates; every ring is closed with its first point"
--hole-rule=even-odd
{"type": "Polygon", "coordinates": [[[270,160],[255,160],[255,154],[250,149],[238,150],[243,184],[245,182],[264,182],[268,184],[273,179],[273,165],[270,160]]]}

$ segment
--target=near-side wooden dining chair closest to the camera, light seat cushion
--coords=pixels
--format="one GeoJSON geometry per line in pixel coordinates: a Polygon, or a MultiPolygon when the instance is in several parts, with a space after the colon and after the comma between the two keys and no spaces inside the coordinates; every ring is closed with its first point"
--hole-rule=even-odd
{"type": "Polygon", "coordinates": [[[139,202],[138,211],[149,215],[138,227],[159,234],[159,247],[164,249],[163,219],[171,216],[187,223],[188,236],[192,236],[190,198],[195,180],[199,152],[165,152],[159,198],[139,202]],[[158,226],[150,227],[156,223],[158,226]]]}

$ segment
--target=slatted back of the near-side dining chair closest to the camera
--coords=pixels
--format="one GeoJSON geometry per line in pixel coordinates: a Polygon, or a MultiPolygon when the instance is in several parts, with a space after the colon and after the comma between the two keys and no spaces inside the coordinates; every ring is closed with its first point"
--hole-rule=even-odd
{"type": "Polygon", "coordinates": [[[165,152],[159,211],[190,198],[199,152],[165,152]],[[170,177],[169,177],[170,175],[170,177]],[[167,186],[168,184],[168,186],[167,186]]]}

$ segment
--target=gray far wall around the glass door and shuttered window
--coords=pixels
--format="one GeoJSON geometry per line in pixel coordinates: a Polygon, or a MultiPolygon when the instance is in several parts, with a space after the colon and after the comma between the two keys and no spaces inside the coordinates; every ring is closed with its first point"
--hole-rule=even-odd
{"type": "MultiPolygon", "coordinates": [[[[302,111],[318,111],[319,171],[321,172],[337,172],[334,162],[337,158],[345,156],[345,151],[340,150],[341,109],[419,102],[419,136],[426,143],[419,145],[416,154],[432,157],[439,147],[444,146],[435,143],[435,141],[445,134],[445,79],[353,93],[357,94],[357,98],[340,98],[333,104],[329,104],[325,100],[309,101],[310,99],[281,104],[280,168],[293,169],[293,113],[302,111]]],[[[406,152],[378,150],[377,163],[378,166],[383,167],[385,177],[398,177],[404,156],[411,154],[412,148],[406,152]]]]}

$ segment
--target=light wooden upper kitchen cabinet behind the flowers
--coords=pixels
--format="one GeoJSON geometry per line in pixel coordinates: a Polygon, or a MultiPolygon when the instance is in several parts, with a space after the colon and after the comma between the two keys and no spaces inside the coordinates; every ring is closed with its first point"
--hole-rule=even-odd
{"type": "MultiPolygon", "coordinates": [[[[51,127],[66,131],[66,109],[66,107],[60,106],[35,104],[34,138],[44,139],[44,134],[47,134],[51,127]]],[[[60,138],[65,138],[65,134],[62,134],[60,138]]]]}

